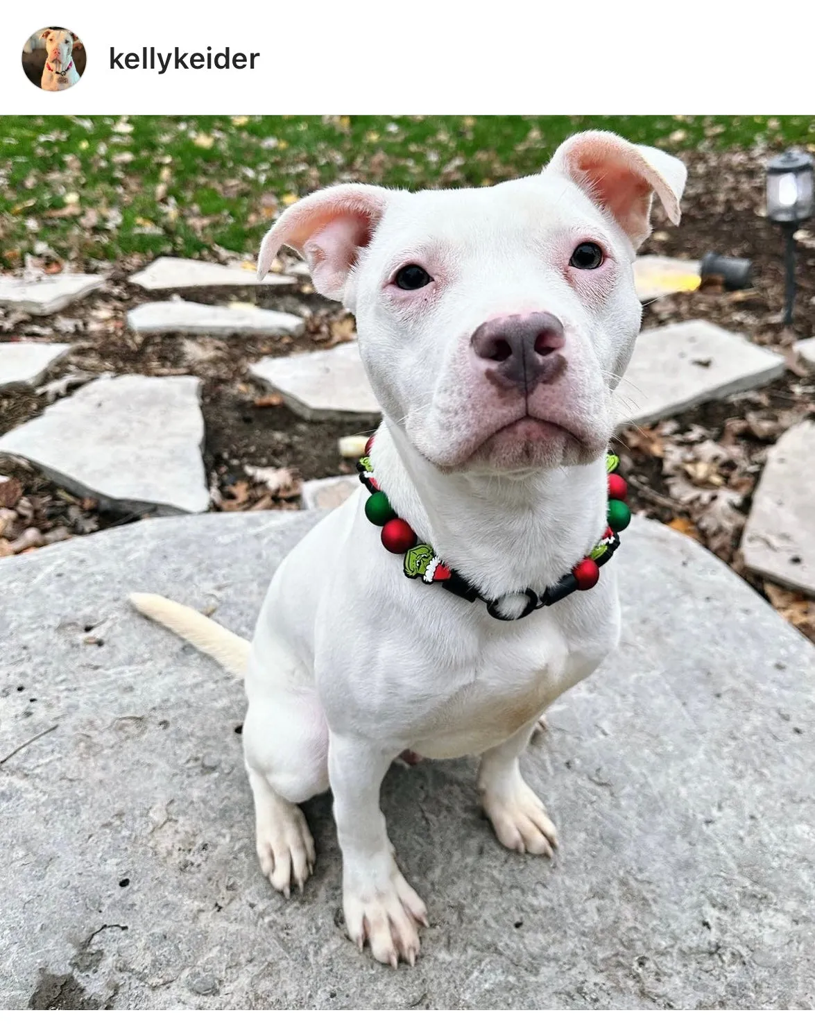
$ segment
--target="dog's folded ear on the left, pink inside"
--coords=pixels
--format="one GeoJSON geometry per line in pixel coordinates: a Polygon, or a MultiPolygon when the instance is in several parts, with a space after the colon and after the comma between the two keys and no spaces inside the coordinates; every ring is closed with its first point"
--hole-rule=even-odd
{"type": "Polygon", "coordinates": [[[266,232],[258,257],[262,281],[281,246],[307,261],[314,288],[341,300],[360,249],[370,242],[390,193],[379,185],[332,185],[290,206],[266,232]]]}

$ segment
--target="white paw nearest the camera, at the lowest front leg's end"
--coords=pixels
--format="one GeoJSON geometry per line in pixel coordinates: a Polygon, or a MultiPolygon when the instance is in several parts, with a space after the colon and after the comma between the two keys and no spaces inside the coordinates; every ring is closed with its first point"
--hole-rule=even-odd
{"type": "Polygon", "coordinates": [[[343,886],[343,912],[350,939],[361,950],[366,942],[380,964],[411,967],[419,955],[419,928],[427,927],[427,908],[391,860],[384,885],[370,882],[343,886]]]}

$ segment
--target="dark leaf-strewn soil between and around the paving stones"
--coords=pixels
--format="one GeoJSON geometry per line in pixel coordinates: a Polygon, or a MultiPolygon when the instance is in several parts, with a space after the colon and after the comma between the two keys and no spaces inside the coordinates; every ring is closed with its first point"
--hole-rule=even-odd
{"type": "MultiPolygon", "coordinates": [[[[815,335],[815,225],[811,232],[804,229],[799,234],[796,316],[792,327],[784,328],[780,323],[782,240],[763,216],[766,155],[692,153],[684,159],[688,187],[682,224],[672,227],[656,211],[655,230],[643,252],[700,258],[715,251],[747,257],[754,264],[754,287],[726,293],[712,282],[701,292],[659,299],[645,307],[643,329],[709,319],[782,352],[789,369],[767,387],[706,403],[652,428],[625,431],[615,446],[629,480],[631,504],[636,511],[698,538],[815,639],[815,602],[750,579],[738,554],[768,447],[788,426],[815,414],[815,377],[806,373],[791,352],[795,340],[815,335]]],[[[203,302],[257,302],[306,315],[308,330],[302,338],[141,338],[126,329],[125,311],[138,302],[167,297],[128,283],[128,275],[143,262],[133,259],[117,265],[103,289],[57,316],[0,316],[0,341],[75,344],[70,356],[46,378],[46,390],[0,395],[0,433],[100,373],[189,373],[203,381],[204,459],[216,509],[298,507],[299,480],[351,472],[353,466],[340,458],[337,441],[345,434],[372,431],[376,419],[301,420],[277,396],[254,383],[247,368],[263,355],[328,348],[350,340],[354,337],[352,317],[316,296],[302,279],[285,290],[207,289],[184,296],[203,302]],[[291,471],[291,480],[271,493],[253,479],[246,466],[285,468],[291,471]]],[[[58,264],[53,268],[58,269],[58,264]]],[[[0,508],[5,501],[17,511],[12,534],[36,527],[43,535],[56,530],[52,539],[59,540],[132,518],[101,514],[92,502],[82,502],[39,474],[3,462],[2,457],[0,473],[22,485],[20,495],[13,490],[4,497],[3,487],[9,484],[0,483],[0,508]]],[[[9,542],[5,543],[5,553],[13,553],[7,550],[9,542]]],[[[4,553],[2,545],[0,539],[0,554],[4,553]]]]}

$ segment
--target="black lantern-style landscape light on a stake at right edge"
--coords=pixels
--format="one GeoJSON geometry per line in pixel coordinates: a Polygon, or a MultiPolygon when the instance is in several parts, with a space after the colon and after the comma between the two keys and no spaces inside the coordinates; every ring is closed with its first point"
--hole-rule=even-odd
{"type": "Polygon", "coordinates": [[[784,324],[792,323],[796,303],[795,233],[815,213],[813,166],[812,157],[800,150],[787,150],[767,165],[767,219],[779,225],[785,242],[784,324]]]}

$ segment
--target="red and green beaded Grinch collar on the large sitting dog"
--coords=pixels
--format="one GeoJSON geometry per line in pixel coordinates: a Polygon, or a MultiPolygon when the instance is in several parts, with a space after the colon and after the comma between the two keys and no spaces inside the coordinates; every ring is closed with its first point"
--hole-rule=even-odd
{"type": "Polygon", "coordinates": [[[564,597],[573,594],[575,590],[591,590],[600,579],[600,566],[604,565],[619,547],[619,531],[624,530],[631,522],[631,511],[625,502],[628,487],[623,477],[614,472],[619,466],[619,459],[612,452],[609,452],[605,461],[606,473],[608,473],[605,532],[589,554],[577,562],[570,572],[566,572],[557,583],[547,587],[543,594],[538,594],[530,588],[518,591],[518,596],[526,598],[526,604],[518,614],[507,615],[501,611],[500,605],[505,597],[512,595],[503,594],[492,600],[484,597],[477,587],[473,587],[456,569],[451,568],[442,561],[429,544],[420,541],[411,525],[404,519],[400,519],[393,511],[387,495],[380,489],[374,477],[371,465],[373,442],[374,437],[369,437],[364,457],[357,462],[356,468],[359,472],[359,479],[370,492],[370,497],[366,501],[366,516],[375,526],[382,527],[383,546],[393,554],[404,556],[404,574],[411,580],[422,580],[423,583],[427,584],[440,583],[444,590],[458,597],[463,597],[467,601],[483,601],[487,612],[494,618],[500,618],[503,622],[524,618],[530,612],[537,611],[538,608],[548,607],[557,601],[562,601],[564,597]]]}

